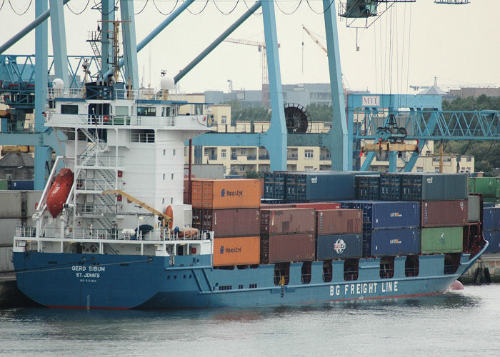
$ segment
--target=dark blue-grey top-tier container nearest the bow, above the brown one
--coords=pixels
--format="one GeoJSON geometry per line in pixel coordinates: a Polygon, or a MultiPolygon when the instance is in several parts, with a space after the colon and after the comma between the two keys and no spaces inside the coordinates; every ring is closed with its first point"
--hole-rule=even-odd
{"type": "Polygon", "coordinates": [[[463,200],[469,196],[466,174],[401,174],[402,201],[463,200]]]}

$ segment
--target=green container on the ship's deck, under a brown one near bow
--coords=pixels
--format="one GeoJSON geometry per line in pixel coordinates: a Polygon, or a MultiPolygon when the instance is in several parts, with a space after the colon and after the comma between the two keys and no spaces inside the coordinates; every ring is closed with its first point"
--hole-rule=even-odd
{"type": "Polygon", "coordinates": [[[459,253],[462,251],[463,228],[422,228],[422,254],[459,253]]]}

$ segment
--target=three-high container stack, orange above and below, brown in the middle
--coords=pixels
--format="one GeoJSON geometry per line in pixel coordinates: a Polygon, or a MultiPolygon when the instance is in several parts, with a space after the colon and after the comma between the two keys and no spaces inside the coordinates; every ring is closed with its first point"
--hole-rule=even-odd
{"type": "Polygon", "coordinates": [[[259,264],[260,181],[193,180],[193,226],[214,231],[214,266],[259,264]]]}

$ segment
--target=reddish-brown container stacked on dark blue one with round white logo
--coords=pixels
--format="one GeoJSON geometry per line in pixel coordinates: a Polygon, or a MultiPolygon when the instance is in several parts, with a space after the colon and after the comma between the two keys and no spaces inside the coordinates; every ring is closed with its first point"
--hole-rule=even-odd
{"type": "Polygon", "coordinates": [[[362,211],[319,209],[316,211],[316,259],[361,257],[362,211]]]}

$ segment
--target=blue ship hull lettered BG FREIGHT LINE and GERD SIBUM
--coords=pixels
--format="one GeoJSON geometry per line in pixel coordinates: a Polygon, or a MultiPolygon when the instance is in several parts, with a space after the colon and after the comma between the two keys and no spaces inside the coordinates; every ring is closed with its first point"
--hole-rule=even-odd
{"type": "MultiPolygon", "coordinates": [[[[483,250],[486,248],[484,246],[483,250]]],[[[323,262],[313,262],[311,280],[301,282],[302,263],[291,263],[289,281],[275,285],[274,265],[217,269],[211,256],[111,256],[16,253],[20,290],[56,308],[210,308],[280,306],[321,301],[402,298],[442,293],[481,255],[460,256],[454,273],[444,274],[444,255],[419,257],[418,276],[405,276],[406,257],[394,260],[394,276],[380,278],[379,258],[359,261],[358,278],[344,280],[344,261],[332,262],[331,281],[323,262]]]]}

